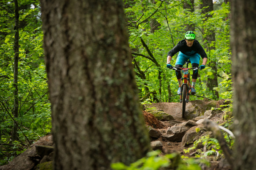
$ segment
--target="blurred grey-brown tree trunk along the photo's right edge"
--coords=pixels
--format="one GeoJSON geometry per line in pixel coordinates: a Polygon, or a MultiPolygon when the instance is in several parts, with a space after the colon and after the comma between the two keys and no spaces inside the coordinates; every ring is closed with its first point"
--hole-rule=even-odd
{"type": "Polygon", "coordinates": [[[234,167],[237,170],[251,170],[256,169],[256,1],[236,0],[231,4],[236,135],[234,167]]]}

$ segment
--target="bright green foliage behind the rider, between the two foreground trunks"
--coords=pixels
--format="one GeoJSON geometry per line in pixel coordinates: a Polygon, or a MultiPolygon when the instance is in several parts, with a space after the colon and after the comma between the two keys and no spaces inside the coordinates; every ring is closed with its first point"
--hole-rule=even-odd
{"type": "MultiPolygon", "coordinates": [[[[205,21],[205,14],[201,10],[191,12],[183,9],[183,3],[190,1],[124,1],[127,16],[127,28],[129,31],[129,43],[132,49],[132,57],[137,73],[137,85],[140,96],[148,91],[156,91],[157,98],[163,102],[176,102],[178,88],[175,73],[166,68],[166,55],[177,42],[184,39],[186,25],[195,25],[196,39],[201,42],[205,51],[211,46],[215,48],[207,51],[209,60],[215,61],[217,67],[218,82],[222,82],[226,74],[230,74],[229,55],[229,4],[222,3],[221,7],[211,11],[212,18],[205,21]],[[204,30],[204,32],[202,32],[204,30]],[[215,42],[203,42],[212,31],[215,32],[215,42]],[[143,45],[141,39],[147,46],[143,45]],[[218,60],[223,62],[218,63],[218,60]],[[225,61],[224,61],[225,60],[225,61]],[[145,74],[143,77],[142,74],[145,74]],[[170,90],[168,87],[170,86],[170,90]],[[168,91],[169,90],[169,91],[168,91]],[[171,96],[171,97],[170,97],[171,96]],[[170,100],[169,100],[170,99],[170,100]]],[[[200,1],[199,1],[200,2],[200,1]]],[[[194,4],[199,6],[199,4],[194,4]]],[[[171,61],[175,65],[176,56],[171,61]]],[[[202,60],[200,61],[202,63],[202,60]]],[[[208,78],[214,76],[212,66],[207,66],[199,74],[197,79],[197,94],[213,98],[212,91],[206,88],[208,78]]],[[[224,98],[226,91],[222,86],[215,87],[224,98]]],[[[197,99],[191,96],[191,100],[197,99]]],[[[154,102],[153,96],[151,100],[154,102]]]]}

